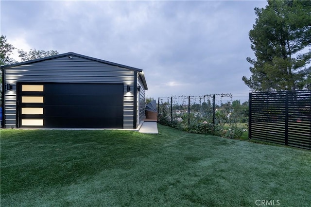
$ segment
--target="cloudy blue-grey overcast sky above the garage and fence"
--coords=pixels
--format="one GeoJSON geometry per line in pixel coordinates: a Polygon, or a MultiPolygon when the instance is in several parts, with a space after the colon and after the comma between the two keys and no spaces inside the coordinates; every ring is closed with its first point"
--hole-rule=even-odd
{"type": "MultiPolygon", "coordinates": [[[[0,1],[17,49],[57,50],[143,69],[147,96],[232,93],[247,100],[248,32],[260,1],[0,1]]],[[[18,59],[17,51],[14,58],[18,59]]]]}

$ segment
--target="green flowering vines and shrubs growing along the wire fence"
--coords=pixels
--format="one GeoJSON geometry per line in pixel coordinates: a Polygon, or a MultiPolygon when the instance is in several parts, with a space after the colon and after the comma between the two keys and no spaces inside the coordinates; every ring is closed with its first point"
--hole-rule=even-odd
{"type": "Polygon", "coordinates": [[[158,99],[160,124],[190,133],[216,135],[225,138],[241,137],[248,121],[248,106],[238,101],[222,103],[232,94],[203,96],[172,96],[158,99]],[[220,97],[220,103],[216,103],[220,97]]]}

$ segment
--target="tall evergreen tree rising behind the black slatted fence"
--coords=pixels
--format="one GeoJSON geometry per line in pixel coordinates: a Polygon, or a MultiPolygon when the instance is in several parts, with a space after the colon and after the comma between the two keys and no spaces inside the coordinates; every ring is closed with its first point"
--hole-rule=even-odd
{"type": "Polygon", "coordinates": [[[311,1],[268,0],[249,32],[256,59],[250,78],[242,80],[254,91],[311,87],[311,1]]]}

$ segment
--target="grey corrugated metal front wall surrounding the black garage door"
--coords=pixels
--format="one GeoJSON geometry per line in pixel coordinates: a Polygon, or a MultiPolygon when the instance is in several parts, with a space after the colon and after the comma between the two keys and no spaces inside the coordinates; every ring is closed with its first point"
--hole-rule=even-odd
{"type": "Polygon", "coordinates": [[[13,89],[5,91],[5,128],[16,127],[16,83],[123,83],[123,128],[133,129],[134,120],[134,71],[97,61],[72,56],[20,65],[6,69],[5,83],[13,89]],[[127,92],[127,86],[131,91],[127,92]]]}

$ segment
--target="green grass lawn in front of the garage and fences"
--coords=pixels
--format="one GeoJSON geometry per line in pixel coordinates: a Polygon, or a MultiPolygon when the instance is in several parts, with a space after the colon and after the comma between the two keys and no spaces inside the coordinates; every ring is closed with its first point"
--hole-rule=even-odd
{"type": "Polygon", "coordinates": [[[158,129],[1,130],[1,207],[311,204],[310,151],[158,129]]]}

